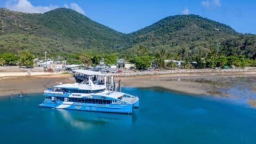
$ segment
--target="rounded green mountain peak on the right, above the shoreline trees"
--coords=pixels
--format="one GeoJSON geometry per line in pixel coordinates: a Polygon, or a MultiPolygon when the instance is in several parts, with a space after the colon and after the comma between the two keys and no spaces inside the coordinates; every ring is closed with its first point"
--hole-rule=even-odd
{"type": "Polygon", "coordinates": [[[195,54],[204,57],[217,43],[226,43],[240,35],[227,25],[198,15],[175,15],[129,34],[126,45],[133,49],[143,45],[150,52],[178,52],[182,58],[195,54]]]}

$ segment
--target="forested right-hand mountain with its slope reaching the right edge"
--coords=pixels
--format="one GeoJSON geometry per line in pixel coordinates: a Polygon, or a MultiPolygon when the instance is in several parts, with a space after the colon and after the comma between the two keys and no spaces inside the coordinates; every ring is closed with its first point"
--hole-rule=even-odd
{"type": "Polygon", "coordinates": [[[150,53],[164,50],[179,54],[183,60],[198,54],[204,58],[220,43],[219,49],[226,55],[244,54],[255,59],[256,54],[255,35],[239,34],[227,25],[198,15],[167,17],[126,38],[126,45],[130,46],[126,53],[133,53],[139,45],[143,45],[148,47],[150,53]]]}

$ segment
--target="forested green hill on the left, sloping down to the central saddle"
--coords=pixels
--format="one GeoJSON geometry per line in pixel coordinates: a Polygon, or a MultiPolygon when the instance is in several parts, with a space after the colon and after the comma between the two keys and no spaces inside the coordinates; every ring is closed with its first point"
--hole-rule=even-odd
{"type": "Polygon", "coordinates": [[[70,9],[44,14],[0,9],[0,51],[113,50],[123,35],[70,9]]]}

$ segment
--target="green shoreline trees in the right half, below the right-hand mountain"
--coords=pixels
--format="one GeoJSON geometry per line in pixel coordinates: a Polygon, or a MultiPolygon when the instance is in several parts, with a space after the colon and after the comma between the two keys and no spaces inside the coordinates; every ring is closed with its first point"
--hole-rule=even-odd
{"type": "Polygon", "coordinates": [[[202,57],[201,54],[195,55],[194,57],[182,57],[182,53],[179,52],[166,52],[161,50],[156,53],[149,53],[147,47],[139,46],[137,54],[130,57],[130,62],[135,63],[138,69],[147,69],[150,66],[154,68],[174,68],[177,64],[173,61],[182,60],[180,68],[233,68],[245,66],[256,66],[256,60],[246,58],[245,55],[227,55],[223,52],[218,52],[216,49],[212,49],[202,57]],[[166,63],[165,60],[171,60],[166,63]],[[192,65],[191,62],[194,62],[192,65]]]}

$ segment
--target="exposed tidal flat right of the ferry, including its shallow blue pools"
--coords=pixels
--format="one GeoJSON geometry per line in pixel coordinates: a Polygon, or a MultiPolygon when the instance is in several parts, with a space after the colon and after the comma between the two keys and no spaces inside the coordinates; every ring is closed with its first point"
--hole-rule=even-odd
{"type": "Polygon", "coordinates": [[[171,74],[158,76],[115,77],[126,87],[162,87],[167,91],[197,97],[242,98],[256,107],[256,73],[171,74]],[[233,89],[241,89],[235,91],[233,89]],[[243,91],[243,90],[249,90],[243,91]]]}

